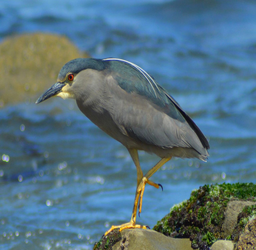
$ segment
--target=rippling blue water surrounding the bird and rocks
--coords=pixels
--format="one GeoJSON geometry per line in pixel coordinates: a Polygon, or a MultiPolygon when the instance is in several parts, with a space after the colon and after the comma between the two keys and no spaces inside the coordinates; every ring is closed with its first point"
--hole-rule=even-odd
{"type": "MultiPolygon", "coordinates": [[[[153,227],[200,185],[255,182],[255,13],[249,0],[2,1],[0,38],[66,35],[95,58],[141,66],[188,112],[210,157],[172,159],[154,174],[163,192],[146,187],[137,219],[153,227]]],[[[0,249],[92,249],[130,220],[135,166],[73,100],[34,101],[0,112],[0,249]]],[[[158,158],[140,160],[146,172],[158,158]]]]}

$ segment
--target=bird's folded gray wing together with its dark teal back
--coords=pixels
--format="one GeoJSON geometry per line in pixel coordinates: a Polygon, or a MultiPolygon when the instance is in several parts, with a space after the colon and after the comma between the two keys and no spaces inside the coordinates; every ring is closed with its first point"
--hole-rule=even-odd
{"type": "Polygon", "coordinates": [[[189,147],[208,155],[203,133],[153,78],[122,62],[113,61],[110,72],[113,120],[123,134],[162,148],[189,147]]]}

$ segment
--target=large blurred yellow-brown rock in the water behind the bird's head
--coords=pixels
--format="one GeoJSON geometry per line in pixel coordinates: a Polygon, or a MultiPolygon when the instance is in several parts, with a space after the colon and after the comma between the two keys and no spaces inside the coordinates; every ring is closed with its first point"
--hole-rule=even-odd
{"type": "Polygon", "coordinates": [[[61,67],[82,53],[65,36],[24,34],[0,44],[0,108],[17,102],[34,102],[56,82],[61,67]]]}

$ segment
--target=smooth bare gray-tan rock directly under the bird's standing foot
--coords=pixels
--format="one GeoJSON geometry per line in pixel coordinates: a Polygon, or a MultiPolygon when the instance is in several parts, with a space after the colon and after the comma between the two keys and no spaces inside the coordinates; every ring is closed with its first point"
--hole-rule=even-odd
{"type": "Polygon", "coordinates": [[[121,237],[113,250],[192,250],[189,239],[170,238],[153,230],[125,229],[121,237]]]}

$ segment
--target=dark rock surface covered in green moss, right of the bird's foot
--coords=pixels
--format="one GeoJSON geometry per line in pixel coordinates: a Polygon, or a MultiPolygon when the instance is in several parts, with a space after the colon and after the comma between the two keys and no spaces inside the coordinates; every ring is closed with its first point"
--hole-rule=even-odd
{"type": "MultiPolygon", "coordinates": [[[[193,248],[209,249],[215,241],[223,239],[222,225],[228,202],[256,201],[255,197],[256,185],[252,183],[204,185],[192,191],[189,200],[174,206],[153,229],[170,237],[190,238],[193,248]]],[[[240,227],[225,239],[235,239],[245,226],[245,218],[255,213],[254,206],[244,209],[240,227]]]]}

